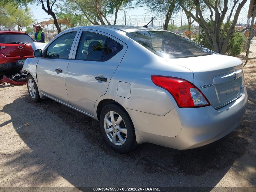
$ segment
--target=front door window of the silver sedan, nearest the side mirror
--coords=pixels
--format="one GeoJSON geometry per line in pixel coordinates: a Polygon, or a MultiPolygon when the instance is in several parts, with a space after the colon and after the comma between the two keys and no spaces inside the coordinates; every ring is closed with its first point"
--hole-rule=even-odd
{"type": "Polygon", "coordinates": [[[70,32],[55,39],[55,41],[48,47],[45,57],[68,59],[75,35],[76,32],[70,32]]]}

